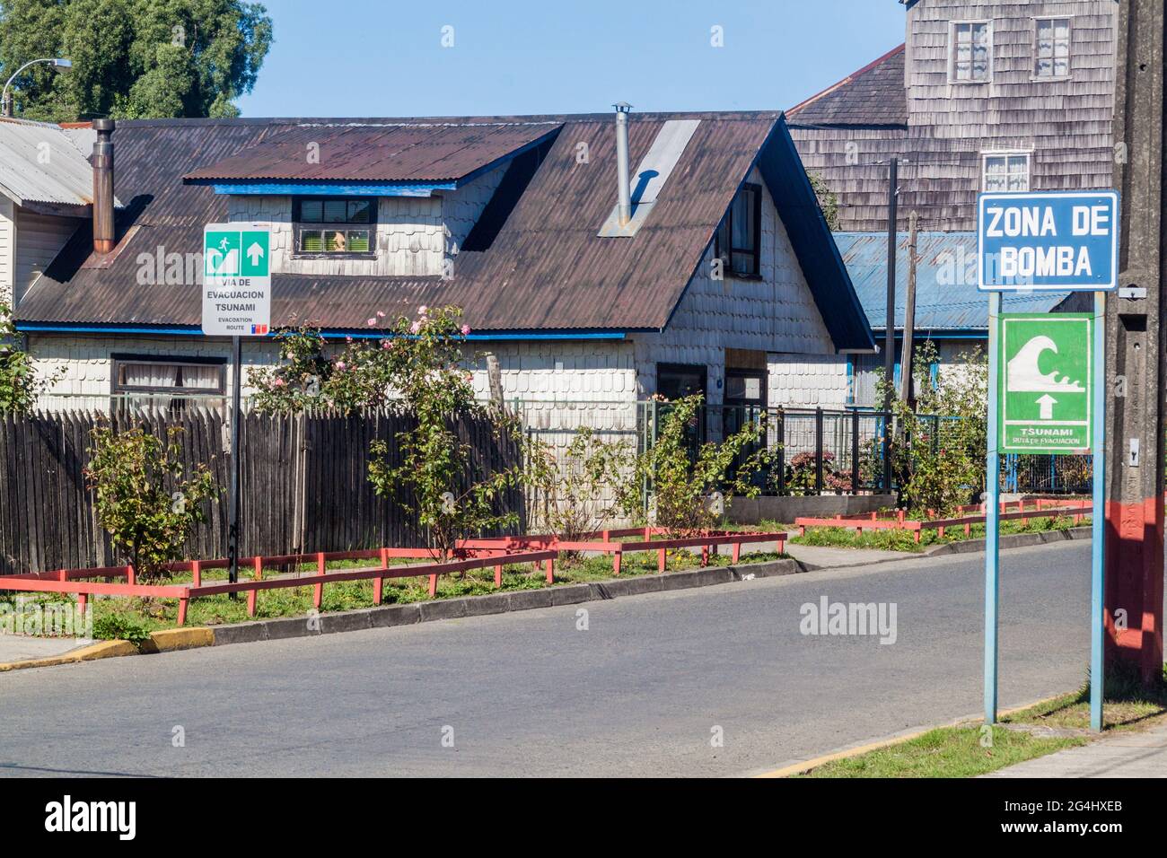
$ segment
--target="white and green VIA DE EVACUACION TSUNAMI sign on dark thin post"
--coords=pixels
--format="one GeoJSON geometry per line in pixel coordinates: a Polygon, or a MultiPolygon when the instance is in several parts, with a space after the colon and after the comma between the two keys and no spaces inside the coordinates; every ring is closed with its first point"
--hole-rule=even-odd
{"type": "MultiPolygon", "coordinates": [[[[271,233],[266,224],[203,228],[203,334],[231,337],[231,480],[228,490],[229,580],[239,580],[239,404],[243,337],[266,336],[272,305],[271,233]]],[[[231,594],[235,598],[235,594],[231,594]]]]}

